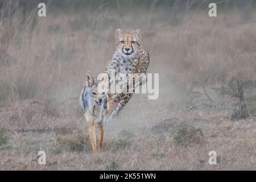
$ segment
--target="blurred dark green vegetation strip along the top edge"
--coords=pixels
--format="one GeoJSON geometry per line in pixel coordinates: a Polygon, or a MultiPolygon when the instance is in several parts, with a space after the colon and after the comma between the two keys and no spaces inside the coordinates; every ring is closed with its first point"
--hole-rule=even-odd
{"type": "MultiPolygon", "coordinates": [[[[254,11],[256,4],[254,0],[0,0],[0,7],[6,6],[6,3],[9,3],[10,5],[18,3],[18,6],[23,9],[23,13],[26,14],[27,12],[34,10],[40,2],[46,3],[46,5],[54,9],[54,11],[77,11],[83,10],[86,7],[90,7],[91,9],[108,8],[121,11],[120,15],[129,12],[134,13],[133,11],[136,12],[139,11],[139,9],[150,10],[152,5],[154,5],[154,9],[164,8],[168,11],[166,12],[167,14],[171,13],[171,11],[181,11],[181,13],[188,10],[198,11],[200,9],[205,9],[205,7],[208,7],[209,3],[212,2],[217,4],[219,10],[228,11],[237,8],[241,10],[242,14],[250,14],[251,11],[254,11]]],[[[14,13],[14,11],[2,12],[1,16],[6,16],[12,13],[14,13]]]]}

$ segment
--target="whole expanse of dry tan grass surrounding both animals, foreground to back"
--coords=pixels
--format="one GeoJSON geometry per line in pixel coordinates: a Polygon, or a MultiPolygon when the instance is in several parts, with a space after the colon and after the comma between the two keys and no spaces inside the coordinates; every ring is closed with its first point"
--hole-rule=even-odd
{"type": "Polygon", "coordinates": [[[203,9],[119,8],[122,16],[106,3],[48,11],[47,18],[17,9],[1,19],[0,147],[9,147],[0,148],[0,169],[256,169],[253,115],[231,122],[237,101],[209,89],[217,107],[187,107],[192,82],[256,78],[256,14],[245,20],[237,9],[209,18],[203,9]],[[78,101],[63,101],[79,96],[87,70],[104,71],[115,28],[141,28],[148,73],[160,73],[159,98],[135,94],[106,123],[104,146],[93,154],[78,101]],[[36,162],[40,150],[46,166],[36,162]],[[212,150],[217,165],[208,164],[212,150]]]}

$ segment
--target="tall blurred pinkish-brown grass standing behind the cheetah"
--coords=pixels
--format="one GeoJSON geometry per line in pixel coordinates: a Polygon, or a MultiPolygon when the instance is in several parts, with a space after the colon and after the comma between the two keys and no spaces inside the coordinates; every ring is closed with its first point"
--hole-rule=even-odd
{"type": "Polygon", "coordinates": [[[104,71],[115,49],[115,28],[142,29],[151,57],[148,72],[161,73],[164,85],[170,75],[204,85],[232,76],[256,78],[255,14],[244,20],[232,8],[209,18],[205,3],[196,11],[187,4],[179,12],[164,3],[153,1],[151,9],[129,3],[132,10],[122,1],[65,11],[50,5],[46,18],[36,15],[36,7],[28,11],[6,3],[0,20],[0,101],[78,96],[87,70],[104,71]],[[181,18],[173,24],[174,13],[181,18]]]}

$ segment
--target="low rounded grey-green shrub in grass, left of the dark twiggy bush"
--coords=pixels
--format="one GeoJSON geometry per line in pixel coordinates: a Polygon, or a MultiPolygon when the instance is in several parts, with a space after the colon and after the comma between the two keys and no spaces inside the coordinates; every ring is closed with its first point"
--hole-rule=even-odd
{"type": "Polygon", "coordinates": [[[200,144],[203,140],[203,133],[200,128],[195,128],[187,123],[180,123],[174,128],[174,142],[177,146],[188,146],[200,144]]]}

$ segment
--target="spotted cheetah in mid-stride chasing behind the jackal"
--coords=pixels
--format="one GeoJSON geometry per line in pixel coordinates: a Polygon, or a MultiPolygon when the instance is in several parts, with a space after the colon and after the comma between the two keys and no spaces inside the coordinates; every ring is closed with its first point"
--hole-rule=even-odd
{"type": "MultiPolygon", "coordinates": [[[[122,31],[118,28],[115,30],[115,44],[116,50],[112,59],[106,64],[106,73],[110,75],[111,69],[114,69],[115,75],[118,73],[125,75],[129,73],[139,73],[139,81],[133,82],[133,88],[144,84],[146,78],[141,73],[146,74],[150,57],[148,52],[141,47],[141,30],[122,31]]],[[[113,81],[114,80],[110,78],[109,84],[113,81]]],[[[117,105],[116,107],[114,106],[110,118],[117,116],[119,111],[121,111],[130,100],[131,96],[133,96],[133,93],[108,93],[109,103],[111,105],[117,105]]],[[[111,108],[111,106],[109,107],[111,108]]]]}

